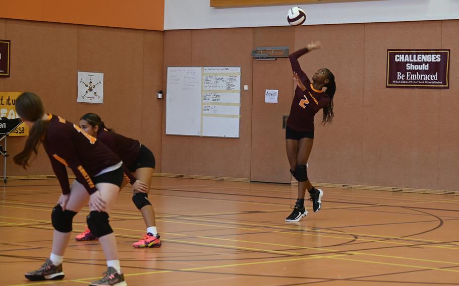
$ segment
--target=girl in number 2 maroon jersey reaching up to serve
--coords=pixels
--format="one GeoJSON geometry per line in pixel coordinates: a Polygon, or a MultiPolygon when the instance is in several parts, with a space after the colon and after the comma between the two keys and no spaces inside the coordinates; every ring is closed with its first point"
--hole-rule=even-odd
{"type": "Polygon", "coordinates": [[[290,172],[298,180],[298,199],[291,215],[285,219],[287,222],[298,222],[306,217],[308,213],[304,207],[306,190],[312,200],[314,212],[321,208],[323,191],[311,185],[307,173],[307,162],[314,141],[314,115],[323,109],[322,123],[331,122],[336,85],[333,74],[327,68],[317,70],[311,83],[298,62],[300,56],[319,48],[320,42],[310,43],[306,48],[289,56],[297,88],[285,128],[285,145],[290,172]]]}

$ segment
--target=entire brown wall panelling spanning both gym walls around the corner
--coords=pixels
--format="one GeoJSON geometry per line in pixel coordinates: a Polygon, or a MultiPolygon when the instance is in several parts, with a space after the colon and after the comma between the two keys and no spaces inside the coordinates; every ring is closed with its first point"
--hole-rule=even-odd
{"type": "MultiPolygon", "coordinates": [[[[261,120],[254,116],[263,111],[260,92],[272,88],[266,78],[276,76],[270,66],[283,70],[282,93],[293,91],[291,74],[282,68],[286,59],[254,63],[250,52],[321,40],[323,48],[300,63],[308,75],[329,68],[337,92],[333,123],[322,126],[321,112],[316,116],[311,180],[456,190],[458,30],[459,20],[147,32],[0,19],[0,36],[12,41],[12,76],[0,79],[0,90],[34,91],[48,111],[71,121],[100,113],[108,126],[150,147],[162,173],[288,181],[283,131],[262,133],[266,124],[279,121],[273,128],[281,128],[277,117],[289,113],[289,104],[269,106],[261,120]],[[450,49],[450,89],[386,89],[386,51],[394,48],[450,49]],[[249,86],[241,91],[241,137],[165,135],[164,100],[155,93],[167,96],[167,66],[241,66],[241,85],[249,86]],[[76,103],[77,70],[104,73],[103,105],[76,103]],[[280,179],[273,179],[276,169],[280,179]]],[[[11,155],[24,139],[9,138],[11,155]]],[[[42,150],[30,171],[8,162],[9,175],[52,174],[42,150]]]]}

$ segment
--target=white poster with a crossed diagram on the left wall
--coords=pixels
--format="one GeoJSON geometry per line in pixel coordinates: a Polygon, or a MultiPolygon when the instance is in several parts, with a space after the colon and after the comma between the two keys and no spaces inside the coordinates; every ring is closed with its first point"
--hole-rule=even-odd
{"type": "Polygon", "coordinates": [[[78,72],[77,102],[103,103],[103,73],[78,72]]]}

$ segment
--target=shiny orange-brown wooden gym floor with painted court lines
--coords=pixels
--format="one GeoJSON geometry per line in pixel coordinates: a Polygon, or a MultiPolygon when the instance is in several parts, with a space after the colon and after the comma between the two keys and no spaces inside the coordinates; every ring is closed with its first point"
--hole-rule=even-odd
{"type": "MultiPolygon", "coordinates": [[[[284,218],[297,187],[154,177],[162,247],[145,232],[129,187],[111,214],[129,285],[459,285],[459,197],[323,188],[322,210],[284,218]]],[[[70,241],[64,280],[28,282],[51,248],[56,180],[9,181],[0,193],[1,285],[82,285],[101,277],[97,242],[70,241]]],[[[307,209],[311,203],[307,201],[307,209]]],[[[88,209],[74,219],[84,230],[88,209]]]]}

